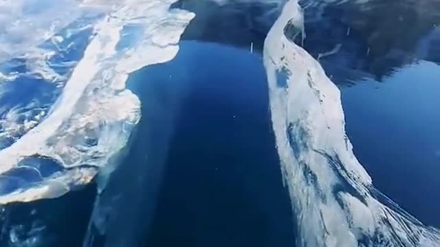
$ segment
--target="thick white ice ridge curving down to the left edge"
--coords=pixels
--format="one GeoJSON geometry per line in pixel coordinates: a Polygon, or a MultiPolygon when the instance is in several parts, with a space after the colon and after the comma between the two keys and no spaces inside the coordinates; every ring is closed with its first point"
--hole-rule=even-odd
{"type": "MultiPolygon", "coordinates": [[[[0,203],[61,196],[69,189],[89,183],[98,169],[106,169],[109,158],[126,145],[140,119],[140,101],[125,89],[129,73],[173,59],[181,33],[194,17],[183,10],[169,10],[173,0],[66,2],[76,4],[74,10],[101,12],[102,16],[91,23],[93,34],[84,55],[45,119],[0,151],[1,174],[15,174],[14,169],[25,158],[35,155],[52,158],[64,169],[49,178],[37,179],[36,183],[25,180],[23,187],[3,193],[0,203]],[[137,34],[130,40],[131,45],[120,48],[118,44],[124,42],[122,31],[129,25],[137,27],[133,30],[137,34]],[[64,189],[60,189],[61,185],[64,189]]],[[[36,1],[16,1],[11,6],[17,13],[14,16],[19,20],[23,9],[30,8],[27,4],[32,3],[36,1]]],[[[7,11],[5,6],[0,5],[2,12],[7,11]]],[[[57,8],[62,11],[63,6],[58,7],[56,2],[47,11],[57,8]]],[[[36,16],[39,20],[39,15],[36,16]]],[[[45,36],[32,42],[23,40],[21,45],[32,48],[56,34],[56,28],[47,25],[47,20],[42,23],[45,36]]],[[[8,56],[16,54],[3,55],[8,56]]],[[[15,178],[8,177],[2,182],[8,179],[15,178]]]]}

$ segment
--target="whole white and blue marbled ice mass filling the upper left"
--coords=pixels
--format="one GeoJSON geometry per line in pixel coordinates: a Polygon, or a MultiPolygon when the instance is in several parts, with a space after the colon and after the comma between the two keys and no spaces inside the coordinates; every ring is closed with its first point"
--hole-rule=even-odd
{"type": "Polygon", "coordinates": [[[8,34],[1,36],[0,92],[8,93],[8,86],[23,78],[56,82],[59,89],[52,102],[35,96],[1,110],[0,139],[9,143],[0,150],[0,203],[61,196],[89,183],[98,170],[105,174],[140,119],[140,101],[125,89],[129,73],[172,59],[194,16],[169,10],[173,2],[0,3],[1,32],[8,34]],[[31,31],[38,37],[28,38],[31,31]],[[65,42],[80,32],[78,40],[86,43],[65,42]],[[59,169],[43,176],[39,167],[22,168],[30,157],[51,160],[59,169]]]}

